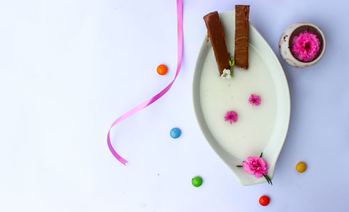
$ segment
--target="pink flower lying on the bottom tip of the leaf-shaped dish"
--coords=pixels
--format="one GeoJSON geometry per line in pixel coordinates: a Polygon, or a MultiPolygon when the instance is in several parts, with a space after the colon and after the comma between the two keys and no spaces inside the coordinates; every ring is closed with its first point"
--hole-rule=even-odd
{"type": "Polygon", "coordinates": [[[251,156],[246,158],[242,164],[242,168],[248,174],[254,174],[256,178],[260,178],[263,174],[268,174],[268,166],[263,158],[251,156]]]}

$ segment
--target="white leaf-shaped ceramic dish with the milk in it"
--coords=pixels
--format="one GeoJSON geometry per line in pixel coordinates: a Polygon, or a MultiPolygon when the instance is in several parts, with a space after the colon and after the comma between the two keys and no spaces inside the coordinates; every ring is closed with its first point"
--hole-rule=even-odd
{"type": "MultiPolygon", "coordinates": [[[[234,53],[235,10],[219,14],[228,51],[234,53]]],[[[268,176],[274,176],[276,160],[290,121],[290,92],[283,68],[258,31],[249,24],[249,68],[234,67],[232,79],[221,79],[211,42],[205,35],[195,66],[193,102],[200,128],[218,156],[242,185],[266,182],[244,172],[248,156],[263,157],[268,176]],[[248,103],[251,94],[262,98],[259,106],[248,103]],[[236,123],[224,120],[225,112],[239,115],[236,123]]]]}

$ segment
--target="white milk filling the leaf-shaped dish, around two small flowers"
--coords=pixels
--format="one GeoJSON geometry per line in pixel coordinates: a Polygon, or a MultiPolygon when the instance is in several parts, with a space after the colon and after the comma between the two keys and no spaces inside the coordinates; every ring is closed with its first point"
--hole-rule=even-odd
{"type": "Polygon", "coordinates": [[[269,70],[251,45],[249,67],[234,66],[234,77],[221,79],[213,50],[209,50],[200,82],[202,113],[216,141],[240,159],[259,156],[269,142],[276,118],[276,92],[269,70]],[[262,98],[259,106],[248,103],[251,94],[262,98]],[[236,123],[224,121],[225,113],[235,111],[236,123]]]}

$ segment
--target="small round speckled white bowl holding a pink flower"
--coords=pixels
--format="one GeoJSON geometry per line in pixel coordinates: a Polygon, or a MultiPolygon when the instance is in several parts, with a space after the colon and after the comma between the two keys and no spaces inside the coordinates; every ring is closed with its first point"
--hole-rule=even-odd
{"type": "Polygon", "coordinates": [[[309,22],[297,22],[295,24],[292,24],[290,27],[285,29],[285,31],[283,31],[279,40],[279,52],[283,60],[285,60],[288,65],[294,66],[296,68],[306,68],[313,66],[315,63],[320,61],[325,53],[325,50],[326,39],[324,33],[315,24],[311,24],[309,22]],[[315,55],[315,58],[309,62],[299,61],[297,58],[295,58],[295,56],[293,56],[292,52],[290,51],[290,47],[292,46],[292,38],[294,36],[298,36],[299,33],[303,31],[310,31],[312,33],[315,33],[315,35],[318,36],[318,39],[320,40],[320,50],[315,55]]]}

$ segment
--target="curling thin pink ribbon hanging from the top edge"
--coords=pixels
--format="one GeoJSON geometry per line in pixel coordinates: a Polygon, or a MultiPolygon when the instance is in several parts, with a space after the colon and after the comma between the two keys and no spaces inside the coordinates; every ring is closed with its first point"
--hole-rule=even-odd
{"type": "Polygon", "coordinates": [[[126,114],[123,114],[119,118],[117,118],[117,120],[115,120],[112,123],[112,126],[110,126],[110,128],[109,128],[109,131],[107,134],[107,144],[108,144],[108,147],[110,149],[110,152],[112,153],[112,155],[115,158],[117,158],[117,160],[119,160],[124,165],[126,165],[127,161],[124,158],[121,158],[121,156],[119,156],[117,151],[115,151],[115,149],[112,147],[112,143],[110,142],[110,130],[112,130],[112,128],[114,126],[116,126],[117,123],[124,121],[125,119],[132,116],[136,112],[140,111],[141,109],[144,109],[145,107],[148,107],[149,105],[154,103],[156,100],[161,98],[161,96],[163,96],[165,93],[167,93],[170,90],[172,84],[174,83],[174,80],[176,80],[176,78],[179,74],[179,70],[181,70],[181,58],[183,55],[183,10],[182,10],[182,2],[181,1],[182,0],[177,0],[177,39],[178,39],[177,44],[178,44],[178,46],[177,46],[177,71],[176,71],[176,75],[174,76],[174,79],[172,80],[172,82],[168,86],[165,87],[165,89],[163,89],[158,94],[156,94],[156,96],[153,96],[149,100],[146,100],[144,103],[141,103],[140,105],[138,105],[138,106],[134,107],[133,109],[131,109],[130,111],[126,112],[126,114]]]}

